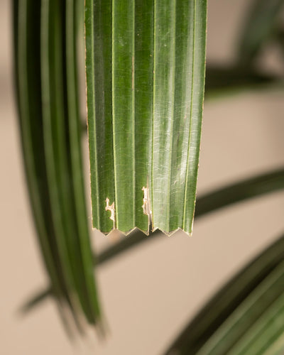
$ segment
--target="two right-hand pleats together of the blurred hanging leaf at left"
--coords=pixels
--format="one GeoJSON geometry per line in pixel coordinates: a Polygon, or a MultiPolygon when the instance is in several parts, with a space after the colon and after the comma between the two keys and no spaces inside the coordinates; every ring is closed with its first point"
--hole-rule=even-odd
{"type": "Polygon", "coordinates": [[[98,315],[84,212],[77,108],[75,3],[43,0],[41,81],[43,132],[53,223],[70,293],[89,323],[98,315]],[[67,18],[69,17],[69,18],[67,18]],[[66,72],[65,72],[66,71],[66,72]]]}

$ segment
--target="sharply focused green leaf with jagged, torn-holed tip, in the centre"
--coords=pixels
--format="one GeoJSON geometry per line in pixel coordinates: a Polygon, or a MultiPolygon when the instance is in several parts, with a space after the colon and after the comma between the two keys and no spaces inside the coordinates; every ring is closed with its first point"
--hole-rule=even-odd
{"type": "Polygon", "coordinates": [[[206,1],[87,0],[85,13],[93,226],[190,234],[206,1]]]}

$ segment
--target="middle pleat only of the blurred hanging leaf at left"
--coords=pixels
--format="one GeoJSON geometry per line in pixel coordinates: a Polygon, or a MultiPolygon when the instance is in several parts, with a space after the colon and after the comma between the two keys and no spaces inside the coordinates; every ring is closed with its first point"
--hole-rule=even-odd
{"type": "Polygon", "coordinates": [[[84,286],[80,280],[81,261],[75,235],[75,216],[73,206],[70,204],[70,200],[73,198],[72,185],[70,180],[67,180],[70,173],[70,157],[67,156],[64,83],[61,75],[63,70],[62,53],[65,51],[63,47],[63,6],[64,4],[58,6],[57,1],[54,0],[43,0],[41,7],[40,60],[41,89],[43,92],[43,138],[48,187],[53,206],[52,217],[55,226],[55,238],[62,260],[62,270],[68,288],[76,290],[84,313],[91,321],[91,312],[83,294],[84,286]]]}

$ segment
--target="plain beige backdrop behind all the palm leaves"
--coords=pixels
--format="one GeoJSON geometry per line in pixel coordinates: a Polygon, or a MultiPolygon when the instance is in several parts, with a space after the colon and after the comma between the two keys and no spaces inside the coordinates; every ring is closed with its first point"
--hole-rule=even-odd
{"type": "MultiPolygon", "coordinates": [[[[47,284],[35,244],[21,162],[11,80],[10,0],[0,0],[0,354],[156,355],[244,262],[283,231],[284,193],[195,222],[193,237],[161,237],[99,268],[109,337],[72,346],[53,302],[17,310],[47,284]]],[[[209,0],[207,61],[233,61],[246,0],[209,0]]],[[[282,70],[274,48],[268,70],[282,70]]],[[[260,65],[263,65],[261,63],[260,65]]],[[[206,102],[198,192],[284,164],[282,92],[206,102]]],[[[87,142],[84,142],[87,143],[87,142]]],[[[87,158],[86,158],[87,167],[87,158]]],[[[113,243],[93,236],[97,250],[113,243]]]]}

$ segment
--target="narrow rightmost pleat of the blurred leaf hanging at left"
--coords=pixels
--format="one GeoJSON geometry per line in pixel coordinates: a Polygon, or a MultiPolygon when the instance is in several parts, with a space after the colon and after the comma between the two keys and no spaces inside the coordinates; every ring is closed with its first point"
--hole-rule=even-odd
{"type": "MultiPolygon", "coordinates": [[[[84,293],[91,312],[93,323],[101,316],[96,284],[94,283],[92,250],[87,219],[87,209],[84,192],[84,177],[81,148],[81,123],[79,113],[79,97],[77,83],[77,33],[83,36],[81,25],[83,21],[78,16],[82,11],[80,1],[68,0],[65,3],[65,35],[66,35],[66,97],[70,165],[72,176],[72,192],[74,194],[74,216],[77,224],[77,239],[82,268],[80,278],[84,280],[84,293]]],[[[83,54],[83,53],[82,53],[83,54]]]]}

